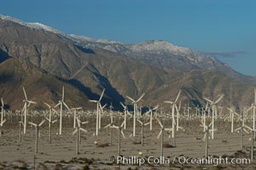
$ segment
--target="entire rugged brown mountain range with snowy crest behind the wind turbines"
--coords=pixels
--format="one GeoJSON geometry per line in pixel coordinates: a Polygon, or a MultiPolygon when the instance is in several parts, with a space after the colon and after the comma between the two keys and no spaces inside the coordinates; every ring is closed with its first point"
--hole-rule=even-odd
{"type": "Polygon", "coordinates": [[[226,97],[222,104],[249,105],[253,100],[253,77],[246,77],[218,59],[176,47],[169,42],[124,44],[108,40],[65,35],[41,24],[31,25],[0,17],[0,95],[10,108],[22,105],[24,86],[29,98],[56,104],[65,86],[66,103],[94,108],[88,99],[120,108],[126,95],[141,105],[174,100],[182,90],[183,103],[204,105],[202,96],[226,97]],[[19,70],[20,69],[20,70],[19,70]],[[230,84],[232,92],[230,92],[230,84]],[[235,93],[236,91],[236,93],[235,93]],[[229,98],[228,96],[231,97],[229,98]]]}

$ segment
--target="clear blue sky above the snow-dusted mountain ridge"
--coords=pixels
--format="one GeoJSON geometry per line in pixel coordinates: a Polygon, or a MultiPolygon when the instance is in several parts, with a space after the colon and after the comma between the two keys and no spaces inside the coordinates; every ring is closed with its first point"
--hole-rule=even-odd
{"type": "Polygon", "coordinates": [[[256,76],[253,0],[9,0],[0,14],[121,42],[161,39],[256,76]]]}

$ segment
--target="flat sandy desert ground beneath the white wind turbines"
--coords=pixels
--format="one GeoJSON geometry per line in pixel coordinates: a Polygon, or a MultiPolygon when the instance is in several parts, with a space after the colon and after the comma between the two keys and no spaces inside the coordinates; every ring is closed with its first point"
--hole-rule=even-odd
{"type": "MultiPolygon", "coordinates": [[[[31,118],[30,118],[31,119],[31,118]]],[[[30,121],[29,119],[29,121],[30,121]]],[[[42,117],[34,118],[34,122],[41,122],[42,117]]],[[[255,162],[250,164],[221,164],[213,165],[191,165],[180,164],[178,156],[186,156],[191,158],[202,158],[205,153],[205,142],[202,141],[204,133],[202,127],[199,127],[198,120],[188,121],[182,120],[179,125],[185,128],[185,132],[179,130],[176,135],[176,147],[172,147],[173,139],[168,138],[169,133],[164,132],[163,155],[171,160],[170,163],[145,163],[141,166],[134,164],[117,164],[109,161],[111,157],[117,160],[117,130],[112,129],[112,144],[109,143],[109,128],[104,128],[110,122],[108,117],[103,117],[101,121],[101,129],[99,136],[94,136],[95,121],[94,117],[82,117],[82,121],[88,120],[89,123],[82,125],[88,130],[88,133],[81,132],[81,145],[79,155],[76,153],[77,136],[72,135],[74,131],[72,125],[72,117],[64,118],[63,133],[59,132],[59,122],[55,122],[52,127],[52,143],[48,143],[48,123],[45,122],[40,127],[40,138],[38,139],[38,153],[35,153],[35,127],[27,126],[27,133],[22,135],[22,141],[19,140],[19,124],[6,122],[2,127],[3,134],[0,137],[0,169],[255,169],[255,162]],[[97,144],[95,144],[97,142],[97,144]],[[174,163],[174,157],[176,162],[174,163]]],[[[121,124],[121,119],[114,119],[115,124],[121,124]]],[[[165,127],[171,127],[171,121],[163,121],[165,127]]],[[[121,155],[139,156],[147,160],[147,157],[160,156],[160,139],[156,139],[160,131],[160,126],[153,121],[153,130],[145,127],[145,144],[142,146],[140,142],[140,129],[137,123],[136,137],[131,137],[133,120],[128,121],[128,127],[124,130],[125,139],[121,139],[121,155]]],[[[238,127],[239,123],[235,124],[238,127]]],[[[209,156],[228,156],[248,158],[250,154],[249,140],[251,134],[244,133],[243,144],[241,147],[241,133],[230,133],[230,122],[217,122],[218,131],[214,135],[214,139],[209,140],[209,156]]]]}

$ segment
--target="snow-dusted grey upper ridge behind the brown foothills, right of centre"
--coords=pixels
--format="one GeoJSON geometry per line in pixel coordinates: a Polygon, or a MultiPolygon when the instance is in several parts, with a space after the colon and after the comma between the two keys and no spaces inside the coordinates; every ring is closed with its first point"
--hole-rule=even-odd
{"type": "Polygon", "coordinates": [[[177,47],[172,43],[162,40],[125,44],[107,40],[94,40],[92,38],[75,35],[66,37],[83,47],[104,48],[117,54],[139,59],[141,62],[149,65],[175,68],[186,72],[191,70],[217,70],[228,77],[235,78],[242,82],[251,84],[256,82],[255,78],[242,75],[210,55],[200,54],[190,48],[177,47]]]}

